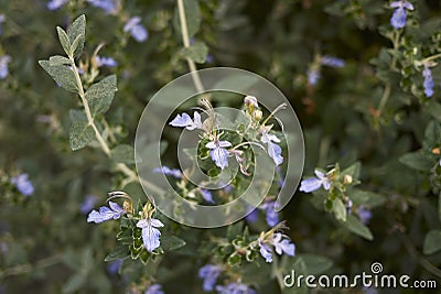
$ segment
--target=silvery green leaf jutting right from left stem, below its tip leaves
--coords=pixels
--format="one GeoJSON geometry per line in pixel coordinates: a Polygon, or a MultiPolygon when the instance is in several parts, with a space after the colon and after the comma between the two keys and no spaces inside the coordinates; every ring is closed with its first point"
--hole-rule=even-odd
{"type": "Polygon", "coordinates": [[[90,86],[86,91],[86,99],[94,117],[106,112],[110,108],[117,90],[116,75],[108,76],[90,86]]]}

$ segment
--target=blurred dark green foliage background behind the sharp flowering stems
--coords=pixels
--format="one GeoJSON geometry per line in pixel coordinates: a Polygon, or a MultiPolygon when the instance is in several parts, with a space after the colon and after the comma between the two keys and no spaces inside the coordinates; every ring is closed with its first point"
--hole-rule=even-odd
{"type": "MultiPolygon", "coordinates": [[[[56,87],[37,65],[39,59],[62,53],[55,26],[66,28],[85,13],[82,58],[86,61],[104,43],[99,54],[118,62],[116,67],[100,68],[100,76],[118,76],[107,118],[114,135],[132,144],[149,98],[189,68],[173,25],[175,1],[120,4],[117,12],[106,13],[82,0],[67,1],[55,11],[46,8],[46,1],[0,1],[6,17],[0,55],[11,56],[9,75],[0,80],[0,293],[121,293],[129,284],[130,277],[109,273],[103,261],[115,244],[115,227],[106,224],[97,229],[79,211],[86,195],[97,195],[104,203],[107,192],[120,188],[122,178],[96,150],[69,150],[69,109],[78,106],[77,97],[56,87]],[[123,32],[133,15],[141,17],[149,32],[144,42],[123,32]],[[23,172],[35,187],[30,197],[10,184],[23,172]]],[[[204,42],[209,54],[198,68],[230,66],[268,78],[290,99],[302,124],[304,174],[312,175],[314,167],[338,163],[345,168],[361,162],[361,188],[380,197],[378,206],[369,207],[374,236],[369,241],[322,211],[314,196],[298,193],[282,213],[297,252],[333,261],[327,273],[355,275],[379,261],[388,273],[440,283],[441,253],[424,254],[423,246],[429,231],[441,235],[441,167],[435,150],[441,148],[441,133],[433,127],[441,122],[441,68],[432,68],[434,95],[427,98],[415,63],[441,52],[440,2],[413,1],[416,9],[399,32],[389,23],[389,2],[383,0],[198,4],[201,26],[194,41],[204,42]],[[394,47],[397,34],[400,41],[394,47]],[[312,85],[308,72],[324,55],[342,58],[345,65],[320,67],[320,79],[312,85]],[[385,91],[387,102],[380,108],[385,91]],[[434,134],[427,129],[430,121],[434,134]],[[411,152],[417,157],[402,157],[411,152]]],[[[164,138],[172,144],[176,134],[164,138]]],[[[140,194],[135,184],[125,189],[140,194]]],[[[196,250],[198,230],[187,233],[195,242],[187,244],[187,251],[196,250]]],[[[441,248],[441,237],[432,248],[441,248]]],[[[179,293],[183,284],[185,293],[202,292],[197,277],[202,264],[182,268],[190,260],[183,255],[164,262],[168,275],[160,282],[165,293],[179,293]]],[[[139,266],[127,265],[132,272],[139,266]]],[[[276,288],[262,285],[261,293],[278,293],[276,288]]]]}

